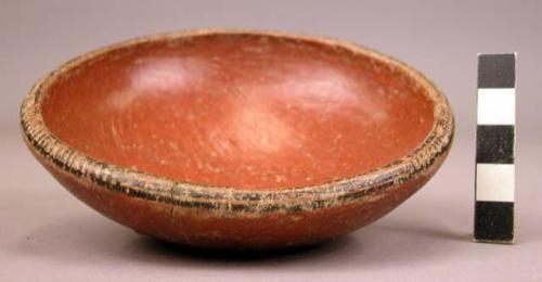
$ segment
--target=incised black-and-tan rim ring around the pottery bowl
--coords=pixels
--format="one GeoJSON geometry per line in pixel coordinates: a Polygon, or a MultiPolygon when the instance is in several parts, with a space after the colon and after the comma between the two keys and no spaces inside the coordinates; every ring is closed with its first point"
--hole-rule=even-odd
{"type": "Polygon", "coordinates": [[[454,118],[448,100],[424,75],[399,60],[365,47],[331,39],[284,31],[255,29],[195,29],[139,37],[76,56],[38,80],[23,100],[21,130],[28,148],[48,165],[72,175],[83,183],[172,207],[198,207],[224,214],[244,215],[317,210],[353,201],[375,201],[400,183],[427,174],[436,159],[452,144],[454,118]],[[48,86],[77,66],[99,60],[114,50],[137,48],[147,42],[175,42],[207,36],[260,36],[309,42],[346,50],[382,62],[412,77],[434,102],[434,124],[426,138],[406,156],[370,171],[328,182],[286,189],[249,190],[233,187],[182,182],[138,169],[108,164],[69,146],[50,132],[41,115],[41,101],[48,86]]]}

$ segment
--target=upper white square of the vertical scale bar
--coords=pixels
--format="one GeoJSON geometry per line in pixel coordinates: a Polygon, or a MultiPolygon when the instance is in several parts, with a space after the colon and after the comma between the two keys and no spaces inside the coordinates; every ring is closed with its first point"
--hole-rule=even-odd
{"type": "Polygon", "coordinates": [[[514,125],[516,90],[514,88],[478,89],[478,125],[514,125]]]}

